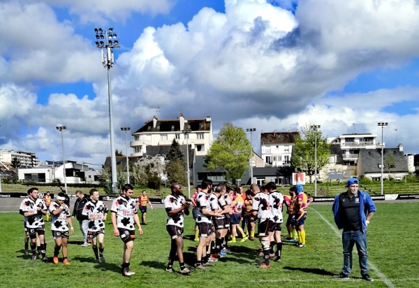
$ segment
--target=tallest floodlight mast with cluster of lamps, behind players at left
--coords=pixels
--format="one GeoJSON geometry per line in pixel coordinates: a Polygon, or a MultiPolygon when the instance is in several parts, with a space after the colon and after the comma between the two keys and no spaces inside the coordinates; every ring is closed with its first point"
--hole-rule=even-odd
{"type": "Polygon", "coordinates": [[[103,67],[108,69],[108,100],[109,100],[109,130],[110,130],[110,165],[112,168],[112,192],[117,194],[117,158],[115,156],[114,144],[114,128],[113,128],[113,115],[112,115],[112,89],[110,85],[110,68],[114,64],[114,56],[112,48],[119,48],[119,41],[117,34],[114,33],[113,28],[108,31],[103,31],[101,28],[95,28],[96,34],[96,48],[102,52],[103,67]]]}

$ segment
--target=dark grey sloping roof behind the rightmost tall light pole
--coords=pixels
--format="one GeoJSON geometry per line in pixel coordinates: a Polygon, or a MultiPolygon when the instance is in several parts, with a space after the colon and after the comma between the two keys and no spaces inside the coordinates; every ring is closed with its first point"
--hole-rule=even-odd
{"type": "MultiPolygon", "coordinates": [[[[386,148],[384,149],[384,165],[385,159],[388,157],[389,154],[394,156],[395,160],[395,167],[390,168],[391,172],[408,172],[409,167],[407,164],[407,160],[404,157],[403,151],[399,151],[397,148],[386,148]]],[[[365,173],[379,173],[381,172],[381,149],[367,149],[367,150],[360,150],[360,155],[358,157],[358,165],[362,163],[362,167],[365,173]]],[[[385,165],[384,172],[388,172],[388,167],[385,165]]]]}

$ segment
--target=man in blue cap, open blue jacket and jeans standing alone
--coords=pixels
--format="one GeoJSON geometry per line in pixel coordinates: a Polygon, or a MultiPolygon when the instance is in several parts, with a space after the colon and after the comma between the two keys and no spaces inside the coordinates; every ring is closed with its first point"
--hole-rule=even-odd
{"type": "Polygon", "coordinates": [[[349,179],[348,190],[337,195],[333,202],[332,211],[335,215],[336,225],[339,229],[344,229],[342,233],[344,268],[339,275],[333,277],[349,279],[352,269],[352,249],[356,244],[362,279],[374,281],[368,275],[367,226],[376,211],[376,206],[372,202],[371,196],[364,191],[358,191],[358,184],[358,179],[349,179]]]}

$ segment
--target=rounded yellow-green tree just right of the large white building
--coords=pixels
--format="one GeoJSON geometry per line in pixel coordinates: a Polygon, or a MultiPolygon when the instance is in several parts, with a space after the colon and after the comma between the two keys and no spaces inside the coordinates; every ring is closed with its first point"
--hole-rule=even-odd
{"type": "Polygon", "coordinates": [[[241,179],[249,169],[250,142],[246,132],[232,123],[225,123],[219,137],[212,144],[205,158],[205,167],[210,170],[225,169],[228,178],[241,179]]]}

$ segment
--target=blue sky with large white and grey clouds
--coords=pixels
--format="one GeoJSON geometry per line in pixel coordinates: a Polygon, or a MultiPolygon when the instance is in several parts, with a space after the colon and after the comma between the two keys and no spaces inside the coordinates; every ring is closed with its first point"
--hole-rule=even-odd
{"type": "Polygon", "coordinates": [[[123,153],[119,128],[180,113],[211,116],[215,137],[226,122],[256,128],[256,152],[262,131],[320,125],[329,138],[381,142],[383,131],[386,147],[419,153],[416,0],[3,0],[0,19],[2,149],[62,160],[56,126],[66,126],[66,160],[105,162],[108,78],[94,28],[112,27],[123,153]]]}

